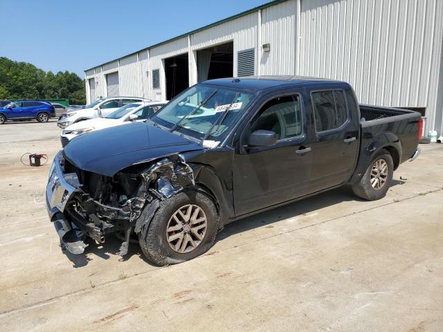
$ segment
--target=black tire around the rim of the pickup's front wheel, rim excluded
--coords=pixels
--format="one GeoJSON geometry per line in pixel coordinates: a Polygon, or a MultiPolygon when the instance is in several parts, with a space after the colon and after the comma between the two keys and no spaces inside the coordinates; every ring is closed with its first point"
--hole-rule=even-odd
{"type": "MultiPolygon", "coordinates": [[[[143,214],[142,214],[143,215],[143,214]]],[[[178,264],[193,259],[208,251],[214,244],[219,229],[219,215],[213,201],[201,192],[179,192],[159,205],[150,224],[143,227],[138,234],[143,255],[158,266],[178,264]],[[199,245],[190,252],[179,253],[174,251],[167,239],[167,226],[174,212],[184,205],[197,205],[206,214],[207,226],[204,238],[199,245]]]]}

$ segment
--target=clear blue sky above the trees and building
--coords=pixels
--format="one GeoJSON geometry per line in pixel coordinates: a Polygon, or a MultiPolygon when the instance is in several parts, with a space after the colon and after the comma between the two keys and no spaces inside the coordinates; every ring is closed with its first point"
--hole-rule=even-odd
{"type": "Polygon", "coordinates": [[[83,78],[86,68],[266,2],[0,0],[0,56],[83,78]]]}

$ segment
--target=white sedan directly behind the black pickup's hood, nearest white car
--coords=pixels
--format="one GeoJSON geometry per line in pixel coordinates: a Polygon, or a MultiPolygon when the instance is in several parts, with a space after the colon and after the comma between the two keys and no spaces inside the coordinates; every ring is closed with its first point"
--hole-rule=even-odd
{"type": "Polygon", "coordinates": [[[133,102],[127,104],[114,112],[109,113],[104,118],[94,118],[75,122],[62,131],[62,147],[65,147],[70,140],[76,136],[90,133],[100,129],[129,124],[133,121],[144,121],[159,111],[167,102],[133,102]]]}

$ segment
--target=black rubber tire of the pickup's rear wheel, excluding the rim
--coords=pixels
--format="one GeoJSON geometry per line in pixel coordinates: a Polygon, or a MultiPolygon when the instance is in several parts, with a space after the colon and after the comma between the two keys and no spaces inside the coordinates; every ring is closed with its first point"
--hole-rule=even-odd
{"type": "Polygon", "coordinates": [[[360,181],[354,183],[352,185],[352,191],[356,196],[359,196],[361,199],[366,199],[368,201],[376,201],[377,199],[383,199],[386,196],[386,192],[390,187],[390,183],[392,181],[392,175],[394,174],[394,163],[392,161],[392,156],[385,149],[381,149],[374,156],[370,164],[368,165],[368,169],[366,169],[365,174],[361,177],[360,181]],[[386,182],[379,189],[374,189],[371,185],[371,171],[372,167],[378,160],[384,160],[388,165],[388,175],[386,178],[386,182]]]}

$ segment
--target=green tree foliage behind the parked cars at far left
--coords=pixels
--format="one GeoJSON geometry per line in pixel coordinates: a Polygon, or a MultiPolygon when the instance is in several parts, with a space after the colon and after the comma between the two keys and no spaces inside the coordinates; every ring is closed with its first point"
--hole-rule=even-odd
{"type": "Polygon", "coordinates": [[[28,62],[0,57],[0,99],[69,99],[85,104],[84,80],[75,73],[42,71],[28,62]]]}

